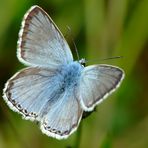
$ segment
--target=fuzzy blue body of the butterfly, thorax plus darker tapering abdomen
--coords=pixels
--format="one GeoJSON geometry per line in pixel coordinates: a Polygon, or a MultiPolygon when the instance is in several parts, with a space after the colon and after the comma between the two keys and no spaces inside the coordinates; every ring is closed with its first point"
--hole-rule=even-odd
{"type": "MultiPolygon", "coordinates": [[[[50,107],[48,106],[57,102],[65,92],[67,99],[70,95],[76,94],[76,89],[80,85],[79,82],[83,69],[84,67],[79,62],[71,62],[60,66],[56,70],[56,73],[49,78],[50,85],[53,86],[54,91],[49,95],[49,99],[43,109],[44,111],[42,111],[44,115],[45,112],[49,111],[50,107]]],[[[78,99],[78,96],[76,96],[75,99],[78,99]]]]}

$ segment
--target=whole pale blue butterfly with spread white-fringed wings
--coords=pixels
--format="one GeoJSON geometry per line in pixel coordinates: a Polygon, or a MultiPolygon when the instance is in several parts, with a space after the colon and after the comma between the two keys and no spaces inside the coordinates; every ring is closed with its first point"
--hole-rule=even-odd
{"type": "Polygon", "coordinates": [[[5,84],[3,98],[24,119],[40,123],[41,131],[57,139],[77,128],[83,112],[93,111],[124,78],[118,67],[84,66],[74,61],[64,36],[39,6],[24,15],[17,57],[26,66],[5,84]]]}

